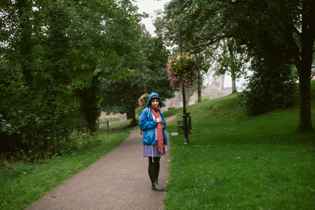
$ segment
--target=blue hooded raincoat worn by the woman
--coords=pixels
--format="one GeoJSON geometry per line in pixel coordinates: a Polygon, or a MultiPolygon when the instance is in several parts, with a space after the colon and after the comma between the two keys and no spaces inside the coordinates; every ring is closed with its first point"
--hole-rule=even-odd
{"type": "MultiPolygon", "coordinates": [[[[148,108],[144,109],[140,115],[139,127],[141,130],[143,130],[143,136],[142,136],[143,145],[147,145],[147,144],[155,145],[156,144],[156,130],[155,130],[155,128],[158,126],[158,122],[157,122],[157,120],[153,120],[153,114],[151,112],[151,108],[149,107],[149,101],[152,98],[152,96],[154,96],[154,95],[157,95],[159,97],[159,95],[157,93],[155,93],[155,92],[151,93],[149,95],[149,99],[147,102],[148,108]]],[[[164,132],[166,122],[164,120],[163,113],[160,110],[159,110],[159,115],[161,116],[162,125],[164,126],[162,129],[162,132],[163,132],[165,144],[167,145],[167,139],[166,139],[166,135],[164,132]]]]}

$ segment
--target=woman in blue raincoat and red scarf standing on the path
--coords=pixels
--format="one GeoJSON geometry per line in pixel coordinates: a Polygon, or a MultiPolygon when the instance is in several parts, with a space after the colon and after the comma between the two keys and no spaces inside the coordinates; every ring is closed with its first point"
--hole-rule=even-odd
{"type": "MultiPolygon", "coordinates": [[[[147,102],[148,108],[141,112],[139,127],[143,130],[143,157],[149,158],[149,177],[152,190],[163,191],[158,184],[159,159],[165,154],[164,145],[167,145],[165,135],[164,116],[159,110],[162,102],[157,93],[151,93],[147,102]]],[[[167,150],[167,146],[166,146],[167,150]]]]}

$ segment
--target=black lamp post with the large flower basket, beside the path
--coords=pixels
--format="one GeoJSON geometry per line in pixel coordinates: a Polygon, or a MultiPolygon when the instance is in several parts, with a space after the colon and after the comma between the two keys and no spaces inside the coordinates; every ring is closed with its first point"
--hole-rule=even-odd
{"type": "MultiPolygon", "coordinates": [[[[185,3],[185,1],[182,0],[172,0],[171,1],[171,5],[176,6],[176,7],[181,7],[183,4],[185,3]]],[[[179,49],[180,49],[180,53],[182,53],[182,39],[181,39],[181,24],[182,21],[185,20],[186,18],[188,18],[189,16],[183,18],[180,22],[179,22],[179,26],[178,26],[178,35],[179,35],[179,49]]],[[[189,145],[189,139],[188,139],[188,123],[187,123],[187,118],[189,117],[190,113],[186,112],[186,98],[185,98],[185,89],[183,89],[183,120],[184,120],[184,145],[189,145]]]]}

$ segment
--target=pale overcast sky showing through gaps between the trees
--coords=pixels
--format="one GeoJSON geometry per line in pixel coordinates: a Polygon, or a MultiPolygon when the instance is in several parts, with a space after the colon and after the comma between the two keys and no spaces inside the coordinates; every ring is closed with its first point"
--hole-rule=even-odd
{"type": "MultiPolygon", "coordinates": [[[[155,28],[152,24],[152,21],[156,18],[155,10],[161,9],[163,10],[163,5],[165,3],[169,3],[171,0],[137,0],[135,4],[138,5],[139,10],[138,13],[145,12],[149,14],[149,18],[142,19],[141,23],[146,26],[146,29],[153,35],[156,36],[157,34],[154,32],[155,28]]],[[[209,79],[208,82],[212,80],[209,79]]],[[[243,81],[243,80],[242,80],[243,81]]],[[[241,82],[236,82],[236,87],[240,87],[241,82]]],[[[225,75],[224,79],[224,88],[232,87],[232,79],[230,76],[225,75]]]]}

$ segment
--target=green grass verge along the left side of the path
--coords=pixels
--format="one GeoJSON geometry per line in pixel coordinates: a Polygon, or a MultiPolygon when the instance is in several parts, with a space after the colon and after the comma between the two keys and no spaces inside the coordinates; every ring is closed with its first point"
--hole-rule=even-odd
{"type": "Polygon", "coordinates": [[[7,166],[0,167],[0,209],[25,209],[55,186],[113,150],[128,136],[128,131],[100,134],[95,137],[99,142],[87,151],[67,157],[53,157],[43,160],[41,164],[7,163],[7,166]]]}

